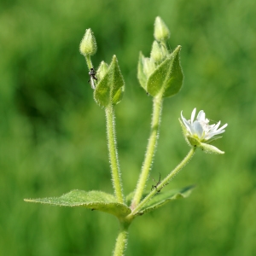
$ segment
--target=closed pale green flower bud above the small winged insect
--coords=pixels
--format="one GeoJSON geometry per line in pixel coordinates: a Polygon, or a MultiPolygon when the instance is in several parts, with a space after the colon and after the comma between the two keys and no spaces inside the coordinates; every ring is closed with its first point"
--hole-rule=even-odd
{"type": "Polygon", "coordinates": [[[96,39],[90,28],[85,30],[84,38],[80,43],[80,53],[82,55],[94,55],[97,50],[96,39]]]}

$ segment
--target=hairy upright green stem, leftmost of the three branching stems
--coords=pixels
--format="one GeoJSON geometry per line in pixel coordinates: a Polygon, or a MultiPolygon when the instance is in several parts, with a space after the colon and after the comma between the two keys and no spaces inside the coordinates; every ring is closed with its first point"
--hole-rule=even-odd
{"type": "Polygon", "coordinates": [[[118,151],[115,138],[113,105],[109,104],[108,107],[105,108],[105,112],[107,119],[108,153],[114,194],[120,203],[124,203],[124,195],[119,171],[118,151]]]}

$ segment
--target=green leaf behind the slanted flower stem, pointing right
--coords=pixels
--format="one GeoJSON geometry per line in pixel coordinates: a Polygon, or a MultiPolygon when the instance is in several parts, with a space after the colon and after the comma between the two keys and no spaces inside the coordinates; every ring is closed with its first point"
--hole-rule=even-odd
{"type": "Polygon", "coordinates": [[[155,209],[164,206],[168,201],[188,197],[194,188],[195,186],[189,186],[183,189],[160,192],[154,195],[154,197],[148,201],[148,203],[142,208],[142,210],[138,212],[138,214],[141,215],[143,213],[154,211],[155,209]]]}

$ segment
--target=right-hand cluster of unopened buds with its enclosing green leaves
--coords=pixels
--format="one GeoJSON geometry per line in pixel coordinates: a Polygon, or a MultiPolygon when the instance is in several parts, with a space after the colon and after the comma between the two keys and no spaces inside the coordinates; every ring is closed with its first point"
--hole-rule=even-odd
{"type": "Polygon", "coordinates": [[[156,17],[154,21],[154,42],[150,58],[139,56],[137,78],[143,89],[151,96],[173,96],[183,84],[183,73],[179,63],[181,47],[173,51],[167,48],[170,32],[165,22],[156,17]]]}

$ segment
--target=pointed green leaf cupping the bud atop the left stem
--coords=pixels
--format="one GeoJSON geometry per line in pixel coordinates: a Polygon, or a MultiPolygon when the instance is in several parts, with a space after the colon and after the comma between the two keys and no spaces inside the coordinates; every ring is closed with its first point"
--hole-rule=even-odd
{"type": "Polygon", "coordinates": [[[108,67],[107,73],[96,84],[94,90],[94,98],[96,102],[103,108],[109,104],[117,104],[121,101],[125,90],[125,81],[119,68],[119,64],[115,55],[108,67]]]}

